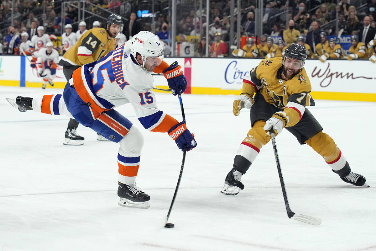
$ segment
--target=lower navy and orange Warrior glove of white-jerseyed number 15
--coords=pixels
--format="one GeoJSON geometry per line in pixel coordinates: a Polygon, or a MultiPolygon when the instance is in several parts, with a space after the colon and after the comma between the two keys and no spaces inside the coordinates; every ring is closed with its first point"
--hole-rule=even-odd
{"type": "Polygon", "coordinates": [[[175,140],[177,147],[182,151],[185,145],[187,146],[187,151],[192,150],[197,145],[194,134],[191,134],[184,122],[171,127],[168,130],[168,136],[175,140]]]}

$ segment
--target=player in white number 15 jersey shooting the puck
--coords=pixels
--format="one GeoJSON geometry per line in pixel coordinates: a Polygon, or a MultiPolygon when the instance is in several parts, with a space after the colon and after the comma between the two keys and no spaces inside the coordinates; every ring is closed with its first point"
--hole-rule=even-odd
{"type": "Polygon", "coordinates": [[[152,71],[164,74],[174,95],[185,91],[187,82],[180,65],[176,61],[171,65],[163,61],[159,38],[151,32],[141,31],[99,61],[75,70],[63,95],[18,96],[7,100],[21,112],[34,110],[74,117],[82,125],[119,143],[118,204],[149,208],[150,196],[136,186],[143,135],[113,108],[130,103],[139,122],[148,131],[167,132],[182,150],[186,147],[189,151],[197,145],[184,122],[179,123],[159,110],[152,88],[152,71]]]}

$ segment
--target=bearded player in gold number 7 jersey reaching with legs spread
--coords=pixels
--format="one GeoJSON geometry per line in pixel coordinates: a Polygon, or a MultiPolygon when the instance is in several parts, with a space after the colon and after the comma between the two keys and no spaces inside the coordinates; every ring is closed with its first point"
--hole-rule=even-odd
{"type": "Polygon", "coordinates": [[[244,189],[241,176],[255,161],[262,146],[270,141],[269,131],[273,129],[274,134],[279,134],[283,128],[301,145],[311,146],[343,181],[367,186],[364,176],[351,172],[334,140],[322,132],[320,123],[306,108],[315,105],[309,94],[311,82],[303,68],[306,58],[305,47],[293,43],[282,58],[262,59],[244,76],[243,91],[233,102],[233,114],[238,116],[242,108],[250,108],[252,129],[238,148],[222,193],[236,195],[244,189]]]}

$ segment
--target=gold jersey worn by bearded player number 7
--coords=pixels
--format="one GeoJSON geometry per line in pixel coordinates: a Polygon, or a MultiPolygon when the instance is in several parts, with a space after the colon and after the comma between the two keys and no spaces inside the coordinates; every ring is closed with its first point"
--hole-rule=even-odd
{"type": "Polygon", "coordinates": [[[285,81],[281,77],[282,58],[262,59],[243,78],[243,93],[253,96],[259,91],[265,101],[281,109],[285,114],[284,126],[294,126],[300,121],[305,106],[314,106],[311,82],[304,68],[293,78],[285,81]]]}

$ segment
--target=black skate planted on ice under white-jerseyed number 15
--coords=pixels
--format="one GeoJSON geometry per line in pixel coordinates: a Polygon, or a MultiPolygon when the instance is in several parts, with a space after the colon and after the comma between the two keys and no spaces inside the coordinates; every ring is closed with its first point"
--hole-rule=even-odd
{"type": "Polygon", "coordinates": [[[119,205],[122,207],[149,208],[150,196],[139,189],[135,184],[126,185],[119,182],[118,196],[119,205]]]}

